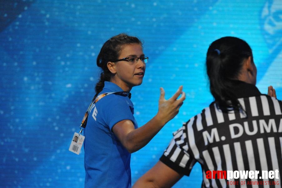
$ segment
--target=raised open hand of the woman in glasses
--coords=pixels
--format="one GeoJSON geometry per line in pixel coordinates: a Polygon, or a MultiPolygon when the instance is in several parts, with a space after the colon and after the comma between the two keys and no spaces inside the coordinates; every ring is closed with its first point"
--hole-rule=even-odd
{"type": "Polygon", "coordinates": [[[166,124],[169,120],[174,118],[179,108],[182,106],[185,100],[185,92],[182,91],[183,86],[180,86],[176,93],[168,100],[165,99],[165,90],[161,87],[161,96],[159,99],[159,110],[157,116],[161,117],[162,124],[166,124]],[[177,99],[179,96],[181,97],[177,99]]]}

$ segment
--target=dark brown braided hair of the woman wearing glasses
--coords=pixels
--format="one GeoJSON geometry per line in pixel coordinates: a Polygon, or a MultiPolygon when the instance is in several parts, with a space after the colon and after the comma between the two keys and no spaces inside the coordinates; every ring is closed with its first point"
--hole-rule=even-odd
{"type": "Polygon", "coordinates": [[[133,36],[128,36],[127,34],[121,33],[116,36],[113,36],[105,42],[102,46],[99,55],[97,56],[97,66],[102,69],[100,74],[100,79],[95,86],[95,97],[102,91],[105,86],[105,81],[110,81],[111,72],[107,67],[107,63],[113,62],[118,59],[123,46],[126,44],[140,44],[142,42],[133,36]]]}

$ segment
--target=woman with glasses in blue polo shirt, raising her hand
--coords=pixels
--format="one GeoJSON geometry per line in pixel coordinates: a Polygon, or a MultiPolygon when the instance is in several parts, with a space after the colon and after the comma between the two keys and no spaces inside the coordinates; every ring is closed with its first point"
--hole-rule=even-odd
{"type": "Polygon", "coordinates": [[[131,187],[131,153],[148,144],[185,99],[182,86],[168,100],[161,88],[157,114],[138,128],[129,92],[141,85],[147,61],[141,41],[126,34],[112,37],[100,50],[102,73],[85,128],[86,188],[131,187]]]}

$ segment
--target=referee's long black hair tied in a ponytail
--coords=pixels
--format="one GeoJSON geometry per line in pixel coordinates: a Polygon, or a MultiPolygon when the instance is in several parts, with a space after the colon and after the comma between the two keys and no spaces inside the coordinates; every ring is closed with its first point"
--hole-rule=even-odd
{"type": "Polygon", "coordinates": [[[254,63],[249,44],[236,37],[220,38],[208,48],[206,66],[210,91],[223,112],[242,109],[230,88],[233,80],[238,80],[244,60],[250,56],[254,63]]]}

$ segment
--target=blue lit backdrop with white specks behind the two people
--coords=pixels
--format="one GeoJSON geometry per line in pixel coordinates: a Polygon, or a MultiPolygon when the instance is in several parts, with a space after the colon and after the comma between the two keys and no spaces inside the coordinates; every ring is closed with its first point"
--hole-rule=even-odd
{"type": "MultiPolygon", "coordinates": [[[[282,89],[282,3],[250,1],[0,1],[0,186],[81,187],[82,150],[68,151],[94,96],[102,44],[127,33],[149,57],[141,86],[132,89],[139,126],[183,85],[179,114],[132,155],[133,183],[159,159],[172,132],[213,98],[205,76],[208,45],[223,36],[245,39],[258,68],[257,86],[282,89]]],[[[174,187],[200,187],[199,165],[174,187]]]]}

